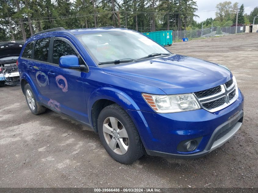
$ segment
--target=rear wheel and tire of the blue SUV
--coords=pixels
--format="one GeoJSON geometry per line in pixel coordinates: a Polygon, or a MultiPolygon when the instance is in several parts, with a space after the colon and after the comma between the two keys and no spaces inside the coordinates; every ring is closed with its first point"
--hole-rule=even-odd
{"type": "Polygon", "coordinates": [[[38,115],[38,114],[44,113],[46,111],[46,108],[42,105],[39,105],[38,101],[34,98],[35,95],[29,84],[26,84],[24,86],[24,95],[25,95],[27,105],[28,105],[29,109],[31,110],[31,113],[38,115]]]}

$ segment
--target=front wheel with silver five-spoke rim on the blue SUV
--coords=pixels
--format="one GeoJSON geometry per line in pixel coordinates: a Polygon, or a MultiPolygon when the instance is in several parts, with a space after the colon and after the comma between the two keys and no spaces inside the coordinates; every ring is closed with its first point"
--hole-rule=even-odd
{"type": "Polygon", "coordinates": [[[114,160],[129,164],[143,156],[144,146],[139,133],[133,120],[121,106],[112,104],[102,109],[98,118],[98,132],[100,141],[114,160]]]}

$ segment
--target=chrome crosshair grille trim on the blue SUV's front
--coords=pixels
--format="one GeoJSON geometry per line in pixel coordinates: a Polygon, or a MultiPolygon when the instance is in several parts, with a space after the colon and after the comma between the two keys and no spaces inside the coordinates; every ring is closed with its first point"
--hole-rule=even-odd
{"type": "Polygon", "coordinates": [[[211,113],[214,113],[216,111],[219,111],[221,109],[224,109],[226,108],[227,106],[231,105],[233,102],[235,102],[238,98],[238,86],[237,86],[237,82],[236,82],[236,79],[235,77],[232,78],[233,79],[233,83],[231,84],[231,86],[229,88],[226,87],[225,83],[224,84],[221,84],[221,91],[219,93],[216,93],[214,95],[210,95],[210,96],[207,96],[207,97],[202,97],[202,98],[198,98],[199,102],[200,102],[200,105],[203,109],[205,109],[206,111],[209,111],[211,113]],[[235,91],[235,95],[234,97],[230,100],[229,99],[229,94],[231,94],[232,92],[235,91]],[[221,98],[224,98],[224,104],[223,105],[220,105],[218,107],[215,107],[213,109],[207,109],[205,108],[204,104],[206,103],[209,103],[209,102],[213,102],[213,101],[217,101],[221,98]]]}

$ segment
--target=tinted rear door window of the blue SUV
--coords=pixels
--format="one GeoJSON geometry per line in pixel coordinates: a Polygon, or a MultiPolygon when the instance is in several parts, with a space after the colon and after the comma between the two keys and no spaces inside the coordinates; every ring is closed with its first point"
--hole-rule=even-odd
{"type": "Polygon", "coordinates": [[[34,59],[47,62],[50,38],[40,39],[34,48],[34,59]]]}

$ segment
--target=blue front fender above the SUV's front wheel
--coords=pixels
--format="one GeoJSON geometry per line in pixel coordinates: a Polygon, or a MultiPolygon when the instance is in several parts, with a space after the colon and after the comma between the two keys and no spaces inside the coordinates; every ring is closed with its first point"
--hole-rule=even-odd
{"type": "Polygon", "coordinates": [[[141,96],[142,92],[165,93],[159,88],[103,72],[101,68],[89,66],[84,77],[85,98],[89,121],[92,125],[93,104],[100,99],[111,100],[126,111],[145,109],[154,112],[141,96]]]}

